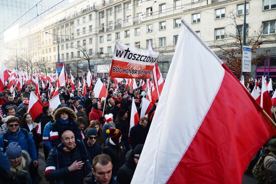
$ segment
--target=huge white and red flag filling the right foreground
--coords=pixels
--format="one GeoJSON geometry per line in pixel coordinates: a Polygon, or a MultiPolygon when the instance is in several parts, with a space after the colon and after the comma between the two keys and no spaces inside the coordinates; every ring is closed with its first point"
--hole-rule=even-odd
{"type": "Polygon", "coordinates": [[[131,183],[241,183],[250,160],[276,134],[261,111],[184,22],[131,183]]]}

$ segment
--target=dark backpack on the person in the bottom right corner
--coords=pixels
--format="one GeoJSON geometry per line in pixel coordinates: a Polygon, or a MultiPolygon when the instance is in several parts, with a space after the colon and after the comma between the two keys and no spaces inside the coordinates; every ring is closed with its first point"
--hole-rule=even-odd
{"type": "Polygon", "coordinates": [[[263,161],[266,156],[273,156],[272,154],[263,154],[257,161],[257,163],[254,165],[252,169],[252,174],[260,181],[264,182],[266,179],[263,161]]]}

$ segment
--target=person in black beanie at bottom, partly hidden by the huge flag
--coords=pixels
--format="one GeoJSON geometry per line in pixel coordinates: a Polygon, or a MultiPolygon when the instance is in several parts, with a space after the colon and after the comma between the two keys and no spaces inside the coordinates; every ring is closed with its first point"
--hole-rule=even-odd
{"type": "Polygon", "coordinates": [[[119,168],[117,181],[120,184],[130,184],[136,166],[139,162],[144,144],[138,144],[126,153],[125,163],[119,168]]]}

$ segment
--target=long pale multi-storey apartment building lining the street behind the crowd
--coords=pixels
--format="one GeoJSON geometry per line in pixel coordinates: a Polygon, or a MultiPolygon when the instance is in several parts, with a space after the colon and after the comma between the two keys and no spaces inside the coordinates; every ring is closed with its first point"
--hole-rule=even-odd
{"type": "MultiPolygon", "coordinates": [[[[270,50],[267,54],[268,66],[271,66],[268,72],[273,67],[276,71],[276,59],[272,57],[276,55],[276,4],[273,0],[249,0],[245,11],[243,0],[79,0],[36,25],[20,30],[20,38],[6,43],[6,46],[23,48],[19,55],[31,54],[34,60],[48,61],[51,66],[58,61],[58,50],[60,62],[71,68],[76,65],[87,68],[87,61],[83,58],[88,56],[96,74],[108,71],[116,42],[147,49],[151,41],[153,49],[160,52],[158,64],[166,77],[181,18],[191,24],[214,51],[219,51],[216,45],[230,47],[237,42],[227,35],[242,33],[244,12],[247,39],[263,29],[260,51],[270,50]],[[229,18],[231,15],[235,17],[236,26],[229,18]]],[[[9,50],[6,50],[6,60],[9,56],[9,50]]],[[[266,59],[263,63],[265,66],[266,59]]],[[[259,67],[262,68],[261,64],[259,67]]]]}

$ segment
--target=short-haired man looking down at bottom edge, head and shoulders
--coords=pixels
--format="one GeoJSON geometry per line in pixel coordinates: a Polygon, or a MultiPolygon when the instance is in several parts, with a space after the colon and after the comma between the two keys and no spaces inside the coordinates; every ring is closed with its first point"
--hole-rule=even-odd
{"type": "Polygon", "coordinates": [[[112,162],[107,154],[97,155],[93,159],[92,173],[85,178],[88,184],[117,184],[112,177],[112,162]]]}

